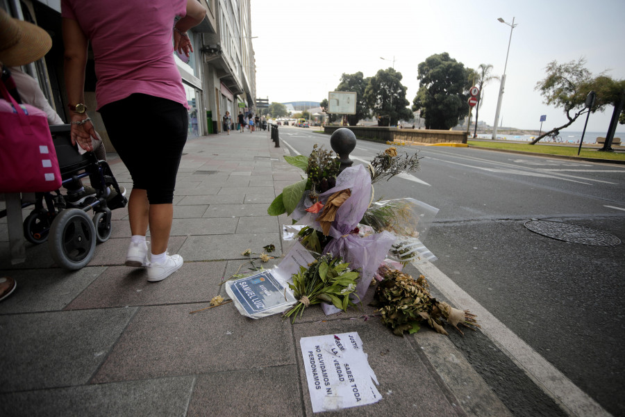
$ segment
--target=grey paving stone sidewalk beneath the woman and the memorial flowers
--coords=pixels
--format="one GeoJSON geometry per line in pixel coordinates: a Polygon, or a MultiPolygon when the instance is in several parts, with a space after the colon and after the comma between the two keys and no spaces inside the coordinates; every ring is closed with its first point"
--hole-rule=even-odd
{"type": "MultiPolygon", "coordinates": [[[[343,332],[363,340],[383,399],[328,414],[508,414],[488,389],[477,392],[437,371],[428,352],[444,366],[462,366],[445,336],[424,330],[419,340],[385,328],[368,305],[373,291],[359,310],[324,316],[315,306],[295,324],[279,315],[251,320],[233,304],[191,313],[226,296],[224,279],[251,265],[244,250],[274,244],[272,255],[282,255],[281,224],[290,220],[267,215],[267,207],[301,178],[285,154],[267,132],[188,141],[169,240],[169,252],[185,264],[158,283],[124,266],[126,208],[113,211],[110,240],[74,272],[54,265],[47,243],[28,243],[26,263],[10,265],[0,220],[0,276],[17,280],[0,302],[0,415],[313,416],[299,340],[343,332]]],[[[110,164],[130,190],[124,164],[114,154],[110,164]]],[[[471,368],[453,372],[476,377],[471,368]]]]}

